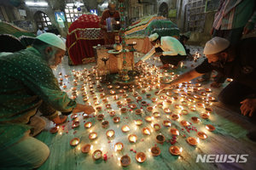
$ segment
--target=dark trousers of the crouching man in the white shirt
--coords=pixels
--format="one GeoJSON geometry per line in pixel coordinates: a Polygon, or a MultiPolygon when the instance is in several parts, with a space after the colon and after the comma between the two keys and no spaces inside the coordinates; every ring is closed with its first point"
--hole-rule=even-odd
{"type": "MultiPolygon", "coordinates": [[[[161,48],[155,48],[155,53],[164,52],[161,48]]],[[[178,65],[179,61],[182,61],[187,58],[187,55],[161,55],[160,59],[163,65],[171,64],[171,65],[178,65]]]]}

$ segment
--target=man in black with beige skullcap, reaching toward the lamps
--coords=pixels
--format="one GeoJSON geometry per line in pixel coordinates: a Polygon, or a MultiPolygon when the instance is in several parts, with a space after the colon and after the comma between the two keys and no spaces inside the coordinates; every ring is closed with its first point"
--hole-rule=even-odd
{"type": "MultiPolygon", "coordinates": [[[[194,70],[184,73],[161,89],[180,82],[187,82],[202,74],[215,70],[234,79],[223,89],[218,99],[226,105],[241,105],[241,114],[256,117],[256,37],[242,39],[236,47],[222,37],[213,37],[207,42],[204,54],[207,59],[194,70]]],[[[256,140],[256,132],[249,133],[256,140]]]]}

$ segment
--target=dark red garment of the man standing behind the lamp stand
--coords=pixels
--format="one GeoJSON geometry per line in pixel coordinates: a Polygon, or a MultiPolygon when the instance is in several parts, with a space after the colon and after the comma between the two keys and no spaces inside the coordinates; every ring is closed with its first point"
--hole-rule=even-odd
{"type": "Polygon", "coordinates": [[[107,26],[106,19],[108,19],[109,17],[114,19],[120,18],[120,14],[118,11],[115,11],[113,14],[110,14],[108,9],[102,13],[102,18],[99,26],[102,28],[102,31],[103,31],[105,45],[114,43],[114,33],[107,32],[107,28],[106,28],[107,26]]]}

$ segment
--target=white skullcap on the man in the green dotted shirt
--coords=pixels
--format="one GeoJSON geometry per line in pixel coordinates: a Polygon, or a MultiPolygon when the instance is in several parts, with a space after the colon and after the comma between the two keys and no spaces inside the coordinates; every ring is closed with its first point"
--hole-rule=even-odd
{"type": "Polygon", "coordinates": [[[37,37],[38,40],[48,43],[56,48],[61,48],[66,51],[66,44],[61,40],[60,37],[56,36],[53,33],[44,33],[37,37]]]}

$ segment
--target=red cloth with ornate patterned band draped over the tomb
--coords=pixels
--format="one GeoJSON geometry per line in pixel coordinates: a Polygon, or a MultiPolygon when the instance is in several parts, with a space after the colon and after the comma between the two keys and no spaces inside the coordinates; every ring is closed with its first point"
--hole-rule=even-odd
{"type": "Polygon", "coordinates": [[[93,46],[104,44],[100,17],[83,14],[68,28],[67,52],[74,65],[83,64],[83,60],[95,61],[93,46]]]}

